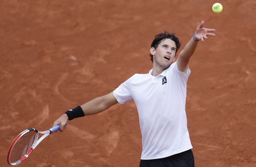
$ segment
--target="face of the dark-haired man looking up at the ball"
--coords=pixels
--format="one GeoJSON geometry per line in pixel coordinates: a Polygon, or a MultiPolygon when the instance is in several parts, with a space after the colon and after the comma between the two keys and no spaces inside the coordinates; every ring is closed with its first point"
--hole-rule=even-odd
{"type": "Polygon", "coordinates": [[[172,39],[162,40],[157,48],[151,48],[153,65],[160,68],[168,68],[175,61],[176,44],[172,39]]]}

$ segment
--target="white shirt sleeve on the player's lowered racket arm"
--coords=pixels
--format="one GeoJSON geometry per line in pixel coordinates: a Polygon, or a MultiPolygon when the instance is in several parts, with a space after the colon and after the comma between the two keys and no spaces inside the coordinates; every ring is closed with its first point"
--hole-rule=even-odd
{"type": "Polygon", "coordinates": [[[128,80],[126,80],[124,83],[122,83],[118,88],[116,88],[113,91],[113,94],[120,104],[124,104],[126,102],[129,102],[133,100],[131,91],[130,91],[130,86],[131,86],[131,80],[132,77],[130,77],[128,80]]]}

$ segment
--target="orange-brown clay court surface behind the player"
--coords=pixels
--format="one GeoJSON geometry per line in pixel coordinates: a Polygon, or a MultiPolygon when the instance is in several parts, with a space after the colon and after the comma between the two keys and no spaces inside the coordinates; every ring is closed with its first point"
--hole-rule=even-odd
{"type": "MultiPolygon", "coordinates": [[[[182,47],[202,20],[216,29],[190,60],[187,119],[197,167],[256,166],[256,1],[18,1],[0,4],[0,166],[27,128],[44,131],[66,110],[152,68],[155,34],[182,47]]],[[[68,121],[18,166],[133,167],[142,151],[134,102],[68,121]]]]}

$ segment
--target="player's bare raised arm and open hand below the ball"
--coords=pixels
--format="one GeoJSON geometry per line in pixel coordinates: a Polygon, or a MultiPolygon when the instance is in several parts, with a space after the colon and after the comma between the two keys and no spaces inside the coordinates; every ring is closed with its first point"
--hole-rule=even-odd
{"type": "Polygon", "coordinates": [[[179,70],[181,70],[182,72],[186,72],[189,64],[189,59],[196,50],[198,41],[204,41],[204,39],[207,39],[207,36],[215,36],[215,34],[211,33],[214,31],[215,29],[204,28],[204,21],[201,22],[201,24],[196,28],[196,32],[194,33],[193,37],[179,54],[179,57],[177,59],[177,66],[179,70]]]}

